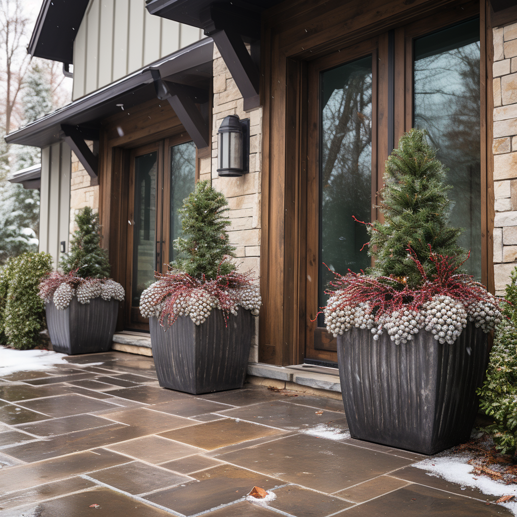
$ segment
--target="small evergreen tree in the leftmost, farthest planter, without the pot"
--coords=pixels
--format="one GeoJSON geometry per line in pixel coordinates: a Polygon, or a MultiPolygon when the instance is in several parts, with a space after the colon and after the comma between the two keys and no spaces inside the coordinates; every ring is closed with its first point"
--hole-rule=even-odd
{"type": "Polygon", "coordinates": [[[75,275],[81,278],[109,277],[108,252],[100,246],[99,215],[87,206],[75,216],[75,223],[78,229],[70,242],[70,251],[59,262],[60,268],[65,275],[77,269],[75,275]]]}

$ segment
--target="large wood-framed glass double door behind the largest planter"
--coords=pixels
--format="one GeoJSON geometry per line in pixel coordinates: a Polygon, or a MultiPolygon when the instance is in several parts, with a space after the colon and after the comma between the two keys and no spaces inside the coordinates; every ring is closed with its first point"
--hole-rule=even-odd
{"type": "Polygon", "coordinates": [[[376,205],[384,161],[411,127],[429,131],[449,168],[451,223],[465,229],[460,244],[471,250],[468,272],[486,282],[480,22],[471,7],[308,64],[306,360],[337,362],[336,340],[316,314],[326,305],[333,271],[372,265],[363,223],[382,217],[376,205]]]}

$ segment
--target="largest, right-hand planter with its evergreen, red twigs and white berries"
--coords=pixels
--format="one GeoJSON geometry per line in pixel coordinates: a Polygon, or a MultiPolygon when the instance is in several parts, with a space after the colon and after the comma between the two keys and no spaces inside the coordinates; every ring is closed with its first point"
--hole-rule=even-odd
{"type": "Polygon", "coordinates": [[[486,333],[501,321],[497,300],[460,272],[468,253],[444,181],[425,132],[405,133],[386,161],[384,222],[368,225],[375,265],[336,275],[324,309],[352,436],[427,454],[469,437],[486,333]]]}

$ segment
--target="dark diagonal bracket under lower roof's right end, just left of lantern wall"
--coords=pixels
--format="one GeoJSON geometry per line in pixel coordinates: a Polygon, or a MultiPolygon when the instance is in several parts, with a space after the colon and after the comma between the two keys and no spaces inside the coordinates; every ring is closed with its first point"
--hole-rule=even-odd
{"type": "Polygon", "coordinates": [[[164,81],[159,72],[155,78],[155,89],[160,100],[169,101],[195,146],[198,149],[208,147],[211,142],[208,119],[196,106],[208,102],[208,90],[164,81]]]}

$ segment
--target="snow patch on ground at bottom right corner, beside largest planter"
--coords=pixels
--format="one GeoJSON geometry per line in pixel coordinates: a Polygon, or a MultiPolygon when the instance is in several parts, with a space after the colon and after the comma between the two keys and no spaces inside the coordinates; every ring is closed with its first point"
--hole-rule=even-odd
{"type": "MultiPolygon", "coordinates": [[[[427,470],[431,476],[439,476],[462,487],[476,488],[486,495],[494,495],[498,498],[504,495],[514,495],[517,498],[517,485],[506,485],[486,476],[473,474],[472,465],[467,463],[469,459],[468,455],[456,454],[423,460],[414,463],[412,466],[427,470]]],[[[508,508],[514,515],[517,515],[517,501],[500,504],[508,508]]]]}

